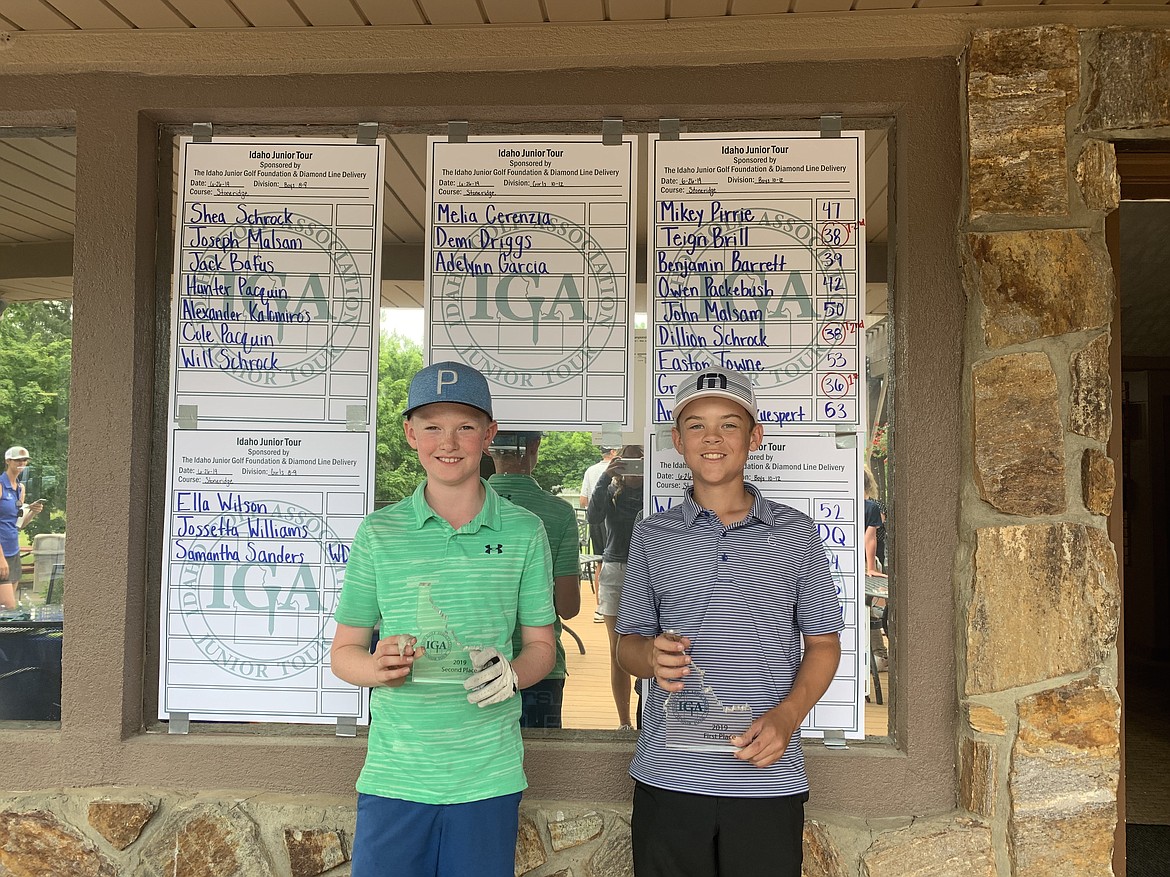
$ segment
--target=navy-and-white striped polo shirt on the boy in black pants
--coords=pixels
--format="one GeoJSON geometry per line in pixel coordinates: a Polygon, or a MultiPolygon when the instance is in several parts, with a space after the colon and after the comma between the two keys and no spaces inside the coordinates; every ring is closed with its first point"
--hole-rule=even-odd
{"type": "MultiPolygon", "coordinates": [[[[841,603],[817,526],[801,512],[755,497],[742,522],[724,526],[690,490],[681,505],[634,527],[618,610],[619,634],[690,637],[704,682],[725,704],[758,718],[789,693],[801,635],[844,627],[841,603]]],[[[772,797],[808,790],[799,728],[784,755],[759,768],[730,753],[667,750],[666,696],[655,683],[629,774],[675,792],[772,797]]]]}

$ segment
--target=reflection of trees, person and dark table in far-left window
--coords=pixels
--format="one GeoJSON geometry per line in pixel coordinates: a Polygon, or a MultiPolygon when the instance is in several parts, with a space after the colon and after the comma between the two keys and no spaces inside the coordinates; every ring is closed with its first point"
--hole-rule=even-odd
{"type": "Polygon", "coordinates": [[[0,719],[57,721],[73,304],[0,306],[0,534],[14,548],[0,586],[0,719]]]}

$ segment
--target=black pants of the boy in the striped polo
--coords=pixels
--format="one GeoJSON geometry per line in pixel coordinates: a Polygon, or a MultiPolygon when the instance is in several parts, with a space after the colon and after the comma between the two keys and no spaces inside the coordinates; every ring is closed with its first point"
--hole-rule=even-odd
{"type": "Polygon", "coordinates": [[[720,797],[634,787],[638,877],[800,877],[807,793],[720,797]]]}

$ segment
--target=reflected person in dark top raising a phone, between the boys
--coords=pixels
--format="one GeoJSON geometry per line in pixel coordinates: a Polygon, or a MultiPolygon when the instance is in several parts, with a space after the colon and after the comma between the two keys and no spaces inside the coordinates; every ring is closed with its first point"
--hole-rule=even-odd
{"type": "Polygon", "coordinates": [[[601,575],[598,582],[598,612],[605,620],[605,631],[610,637],[610,689],[618,707],[619,731],[633,730],[629,719],[631,679],[617,660],[618,606],[621,587],[626,579],[626,561],[629,558],[629,534],[634,522],[642,513],[642,475],[627,474],[631,461],[642,460],[642,446],[627,444],[620,456],[610,461],[593,489],[589,503],[589,520],[604,523],[606,531],[605,551],[601,553],[601,575]],[[612,484],[612,490],[611,490],[612,484]]]}

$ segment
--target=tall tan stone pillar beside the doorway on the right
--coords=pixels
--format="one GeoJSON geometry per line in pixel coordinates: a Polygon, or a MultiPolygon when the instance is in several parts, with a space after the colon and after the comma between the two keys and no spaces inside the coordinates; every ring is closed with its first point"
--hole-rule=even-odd
{"type": "Polygon", "coordinates": [[[1120,198],[1113,141],[1168,122],[1168,47],[1170,33],[1047,26],[978,33],[968,56],[959,794],[998,877],[1113,873],[1104,217],[1120,198]]]}

